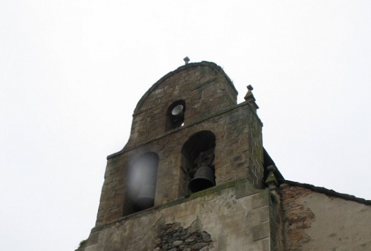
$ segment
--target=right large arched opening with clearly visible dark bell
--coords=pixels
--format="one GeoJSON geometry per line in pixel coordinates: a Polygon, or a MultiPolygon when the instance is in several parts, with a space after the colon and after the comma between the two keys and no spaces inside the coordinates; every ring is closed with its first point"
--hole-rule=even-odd
{"type": "Polygon", "coordinates": [[[181,150],[180,195],[199,192],[210,188],[215,183],[215,135],[210,131],[193,134],[181,150]]]}

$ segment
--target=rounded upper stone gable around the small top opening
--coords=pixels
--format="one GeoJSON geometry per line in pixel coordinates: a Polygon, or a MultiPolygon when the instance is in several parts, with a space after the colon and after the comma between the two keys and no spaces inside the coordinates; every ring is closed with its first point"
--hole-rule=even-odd
{"type": "Polygon", "coordinates": [[[174,101],[185,101],[185,125],[237,103],[237,91],[216,65],[182,67],[148,90],[133,114],[127,147],[144,143],[166,131],[166,112],[174,101]],[[210,67],[212,66],[212,67],[210,67]]]}

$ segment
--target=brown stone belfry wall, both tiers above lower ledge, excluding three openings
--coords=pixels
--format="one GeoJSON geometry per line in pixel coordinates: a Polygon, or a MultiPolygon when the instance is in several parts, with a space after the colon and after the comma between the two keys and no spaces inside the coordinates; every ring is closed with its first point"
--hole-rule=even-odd
{"type": "Polygon", "coordinates": [[[154,205],[186,196],[179,185],[184,183],[181,148],[203,130],[216,138],[217,185],[247,178],[263,188],[262,123],[248,102],[236,104],[236,94],[228,76],[212,63],[182,66],[152,86],[134,112],[128,143],[108,157],[96,225],[132,213],[126,198],[128,167],[146,152],[159,156],[154,205]],[[186,106],[184,125],[166,131],[166,110],[179,99],[186,106]]]}

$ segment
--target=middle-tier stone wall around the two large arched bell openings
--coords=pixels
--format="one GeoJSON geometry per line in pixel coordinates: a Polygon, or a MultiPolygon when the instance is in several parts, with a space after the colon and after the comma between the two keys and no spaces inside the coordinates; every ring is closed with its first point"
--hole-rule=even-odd
{"type": "MultiPolygon", "coordinates": [[[[258,184],[257,187],[259,187],[263,177],[263,166],[262,160],[251,160],[252,150],[248,140],[252,132],[246,126],[251,116],[249,106],[242,103],[229,112],[194,125],[184,126],[181,130],[170,132],[163,137],[139,145],[137,148],[128,149],[108,159],[97,225],[123,216],[125,184],[128,183],[126,181],[128,165],[146,152],[155,152],[159,155],[154,205],[161,205],[185,196],[186,194],[181,194],[181,190],[179,190],[180,172],[182,172],[181,148],[192,134],[202,130],[210,130],[216,136],[214,153],[217,185],[248,178],[251,183],[258,184]]],[[[259,141],[261,143],[261,138],[259,141]]],[[[259,149],[262,151],[262,146],[259,149]]],[[[262,154],[259,155],[262,158],[262,154]]]]}

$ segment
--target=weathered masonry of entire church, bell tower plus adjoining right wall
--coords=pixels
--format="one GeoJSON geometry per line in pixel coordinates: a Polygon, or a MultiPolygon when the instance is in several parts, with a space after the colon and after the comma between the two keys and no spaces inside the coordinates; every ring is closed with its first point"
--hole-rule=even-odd
{"type": "Polygon", "coordinates": [[[96,226],[79,250],[371,250],[370,203],[288,185],[279,175],[281,187],[266,188],[273,163],[263,157],[262,123],[248,90],[237,104],[230,79],[209,62],[155,83],[134,110],[128,143],[108,157],[96,226]],[[180,123],[170,116],[178,104],[180,123]],[[188,145],[192,137],[199,140],[188,145]],[[132,181],[134,161],[148,152],[158,169],[133,174],[146,182],[132,181]],[[201,164],[212,167],[216,186],[190,194],[201,164]],[[144,210],[138,198],[148,183],[154,203],[144,210]]]}

